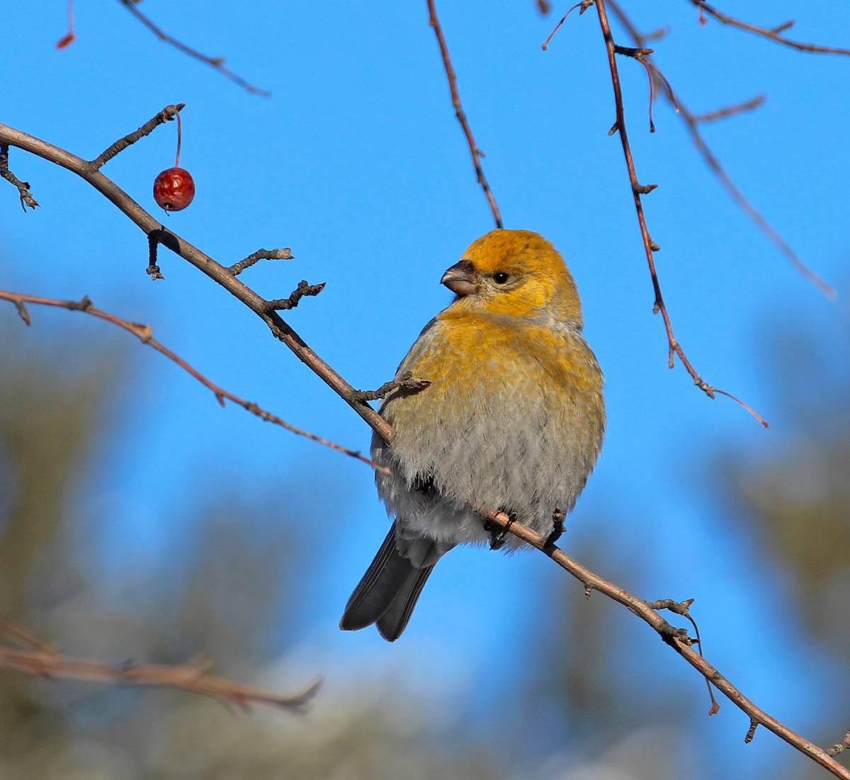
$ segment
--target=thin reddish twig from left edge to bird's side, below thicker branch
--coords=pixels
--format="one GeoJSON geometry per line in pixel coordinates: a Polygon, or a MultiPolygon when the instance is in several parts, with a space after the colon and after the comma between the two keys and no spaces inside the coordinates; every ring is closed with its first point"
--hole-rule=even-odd
{"type": "MultiPolygon", "coordinates": [[[[336,444],[335,442],[331,442],[329,439],[317,436],[315,433],[311,433],[309,431],[303,430],[303,428],[291,425],[290,423],[280,419],[280,417],[278,417],[277,415],[273,415],[271,412],[262,409],[260,406],[258,406],[258,404],[254,404],[252,401],[246,401],[245,398],[240,398],[238,395],[235,395],[235,393],[230,393],[230,391],[225,390],[224,387],[219,387],[217,384],[207,379],[206,376],[201,374],[199,370],[196,370],[195,368],[190,366],[178,354],[173,353],[166,346],[156,341],[156,339],[151,335],[152,331],[150,329],[150,325],[141,325],[138,322],[131,322],[128,319],[116,317],[115,314],[109,314],[108,312],[101,311],[99,308],[94,308],[94,305],[88,299],[88,297],[82,298],[81,301],[63,301],[57,298],[44,298],[34,295],[24,295],[20,292],[9,292],[0,290],[0,300],[13,302],[15,306],[19,307],[19,311],[20,307],[23,307],[25,303],[36,303],[41,306],[66,308],[69,311],[78,311],[83,312],[85,314],[91,314],[93,317],[97,317],[98,319],[104,319],[106,322],[111,322],[112,325],[117,325],[124,331],[132,333],[133,336],[136,336],[136,338],[138,338],[140,342],[142,342],[143,344],[147,344],[151,348],[156,349],[158,353],[165,355],[167,359],[172,360],[188,374],[194,376],[198,382],[201,382],[204,387],[207,387],[212,391],[213,395],[215,395],[216,399],[218,400],[218,403],[222,406],[224,406],[224,399],[226,398],[227,400],[232,401],[234,404],[241,406],[242,409],[251,412],[252,415],[259,417],[260,420],[272,422],[275,425],[278,425],[282,428],[286,428],[287,431],[296,433],[298,436],[309,438],[310,441],[314,441],[317,444],[323,444],[326,447],[335,449],[337,452],[343,453],[343,455],[348,455],[349,457],[354,458],[355,460],[358,460],[361,463],[365,463],[367,466],[371,466],[377,472],[381,472],[382,474],[387,475],[390,474],[387,468],[385,468],[384,466],[379,466],[375,461],[371,461],[369,460],[369,458],[365,457],[365,455],[361,455],[360,451],[356,449],[350,449],[348,447],[343,447],[342,444],[336,444]]],[[[21,316],[24,315],[21,314],[21,316]]],[[[27,325],[30,324],[28,315],[25,321],[27,325]]]]}

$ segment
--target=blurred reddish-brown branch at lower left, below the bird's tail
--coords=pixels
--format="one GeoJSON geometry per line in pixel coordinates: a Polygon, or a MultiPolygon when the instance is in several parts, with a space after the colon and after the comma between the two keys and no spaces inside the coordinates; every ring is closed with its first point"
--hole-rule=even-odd
{"type": "Polygon", "coordinates": [[[309,704],[318,691],[320,682],[314,682],[302,692],[281,696],[263,688],[241,685],[210,674],[211,662],[197,658],[181,666],[166,664],[102,664],[80,658],[65,658],[51,647],[38,642],[28,630],[13,620],[0,615],[0,634],[7,634],[26,649],[19,650],[0,644],[0,670],[10,670],[35,677],[63,677],[89,682],[129,684],[135,686],[175,688],[178,691],[197,693],[250,708],[252,704],[270,704],[280,709],[299,712],[309,704]]]}

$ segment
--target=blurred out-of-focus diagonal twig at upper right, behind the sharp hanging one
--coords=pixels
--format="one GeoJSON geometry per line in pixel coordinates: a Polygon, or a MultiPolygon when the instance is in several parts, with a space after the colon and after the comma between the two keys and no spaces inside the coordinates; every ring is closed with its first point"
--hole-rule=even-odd
{"type": "MultiPolygon", "coordinates": [[[[638,31],[638,28],[634,25],[632,20],[629,19],[626,13],[622,10],[619,0],[608,0],[608,4],[611,8],[611,13],[617,17],[617,20],[623,26],[623,29],[626,30],[628,35],[632,37],[632,40],[638,46],[643,46],[648,40],[647,37],[643,36],[641,32],[638,31]]],[[[660,74],[657,67],[655,68],[655,71],[660,74]]],[[[700,122],[705,122],[705,118],[700,118],[700,116],[692,114],[688,107],[682,103],[681,99],[673,93],[670,82],[666,79],[663,79],[660,86],[666,99],[674,106],[677,114],[682,117],[683,122],[686,127],[688,127],[691,141],[697,151],[700,152],[700,155],[702,155],[703,160],[706,161],[706,165],[711,168],[711,172],[717,176],[720,183],[723,184],[723,187],[726,188],[726,191],[732,196],[732,199],[738,204],[741,211],[743,211],[752,222],[756,223],[757,228],[760,229],[764,235],[767,235],[768,240],[770,240],[774,246],[779,249],[779,252],[782,252],[785,257],[788,258],[791,265],[796,268],[797,273],[801,274],[804,279],[816,286],[819,291],[823,292],[826,297],[830,298],[830,300],[834,300],[836,298],[835,289],[802,262],[800,257],[797,256],[796,252],[794,252],[785,239],[782,238],[771,224],[762,217],[762,214],[757,211],[756,207],[746,199],[745,195],[740,191],[740,189],[738,189],[737,185],[734,184],[731,178],[729,178],[729,175],[723,168],[723,165],[717,159],[717,155],[711,151],[708,144],[706,144],[706,139],[703,138],[702,133],[700,133],[699,124],[700,122]]]]}

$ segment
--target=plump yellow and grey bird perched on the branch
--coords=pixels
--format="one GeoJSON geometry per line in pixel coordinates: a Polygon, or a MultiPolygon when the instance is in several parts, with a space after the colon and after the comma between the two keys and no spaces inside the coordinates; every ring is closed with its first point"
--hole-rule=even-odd
{"type": "Polygon", "coordinates": [[[455,297],[422,329],[378,408],[393,436],[374,433],[371,456],[386,470],[376,471],[377,491],[394,520],[339,624],[375,624],[388,642],[446,552],[523,545],[486,512],[549,534],[604,438],[604,377],[581,333],[575,281],[549,241],[492,230],[440,281],[455,297]]]}

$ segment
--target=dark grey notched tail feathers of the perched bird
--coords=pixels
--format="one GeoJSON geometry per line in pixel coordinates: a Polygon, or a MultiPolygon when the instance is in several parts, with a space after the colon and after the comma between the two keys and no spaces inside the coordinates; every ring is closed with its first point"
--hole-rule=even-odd
{"type": "Polygon", "coordinates": [[[439,558],[444,551],[434,549],[431,555],[421,558],[423,561],[431,558],[433,563],[417,568],[410,558],[399,554],[393,523],[381,549],[348,599],[339,627],[354,631],[375,623],[387,642],[395,642],[411,619],[419,594],[436,563],[434,553],[439,558]]]}

